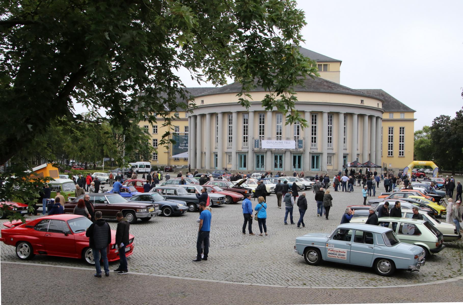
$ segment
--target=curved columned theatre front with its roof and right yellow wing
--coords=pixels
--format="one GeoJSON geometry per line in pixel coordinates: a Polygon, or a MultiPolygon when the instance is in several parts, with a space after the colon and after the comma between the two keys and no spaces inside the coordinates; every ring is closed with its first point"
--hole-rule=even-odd
{"type": "Polygon", "coordinates": [[[177,160],[179,165],[242,171],[338,171],[357,160],[389,169],[407,166],[413,160],[415,111],[381,89],[340,85],[341,61],[300,50],[317,61],[320,74],[295,88],[295,109],[307,120],[308,128],[285,125],[282,113],[264,110],[262,88],[249,92],[249,109],[238,104],[239,83],[204,88],[203,92],[192,88],[197,92],[197,108],[188,115],[188,159],[177,160]]]}

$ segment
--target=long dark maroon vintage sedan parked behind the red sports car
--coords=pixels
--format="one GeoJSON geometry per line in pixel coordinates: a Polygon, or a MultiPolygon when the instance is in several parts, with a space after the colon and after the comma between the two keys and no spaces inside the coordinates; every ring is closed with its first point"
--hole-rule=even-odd
{"type": "MultiPolygon", "coordinates": [[[[148,221],[151,217],[161,214],[159,205],[154,202],[151,204],[135,201],[129,202],[121,195],[113,193],[92,193],[87,195],[90,196],[90,202],[93,203],[95,212],[100,211],[103,214],[103,218],[114,219],[117,212],[122,212],[127,221],[132,224],[138,218],[142,221],[148,221]]],[[[72,201],[66,201],[64,204],[64,213],[72,214],[79,199],[84,199],[84,195],[72,201]]]]}

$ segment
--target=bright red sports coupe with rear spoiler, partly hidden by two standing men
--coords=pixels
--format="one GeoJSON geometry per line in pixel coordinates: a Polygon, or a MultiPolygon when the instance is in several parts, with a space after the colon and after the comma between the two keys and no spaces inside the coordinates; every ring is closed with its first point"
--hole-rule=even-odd
{"type": "MultiPolygon", "coordinates": [[[[85,231],[92,224],[87,217],[74,214],[58,214],[39,217],[35,220],[6,222],[1,230],[0,241],[16,247],[16,255],[21,260],[29,260],[37,255],[81,258],[94,264],[93,250],[88,246],[85,231]]],[[[125,245],[125,256],[133,254],[133,235],[125,245]]],[[[119,260],[116,249],[116,231],[111,230],[111,243],[108,245],[109,262],[119,260]]]]}

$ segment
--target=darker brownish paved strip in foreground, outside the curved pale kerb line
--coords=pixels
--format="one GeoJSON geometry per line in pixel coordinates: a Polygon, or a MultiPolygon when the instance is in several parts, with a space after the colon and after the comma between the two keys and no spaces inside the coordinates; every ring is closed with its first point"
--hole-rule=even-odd
{"type": "Polygon", "coordinates": [[[296,289],[150,275],[95,278],[94,269],[1,265],[3,304],[280,305],[457,302],[463,281],[388,289],[296,289]],[[19,279],[30,279],[21,281],[19,279]],[[35,280],[34,280],[35,279],[35,280]],[[18,285],[19,281],[24,285],[18,285]]]}

